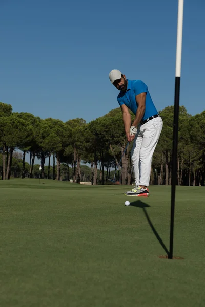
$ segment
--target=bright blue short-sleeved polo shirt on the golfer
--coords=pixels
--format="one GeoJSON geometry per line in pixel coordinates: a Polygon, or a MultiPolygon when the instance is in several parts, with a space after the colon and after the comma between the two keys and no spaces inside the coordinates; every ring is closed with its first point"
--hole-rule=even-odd
{"type": "Polygon", "coordinates": [[[125,104],[133,113],[136,115],[137,112],[137,103],[135,96],[141,93],[146,93],[146,102],[145,102],[145,113],[142,117],[142,120],[147,119],[154,114],[157,114],[157,109],[154,106],[150,93],[148,91],[147,85],[141,80],[128,80],[127,91],[120,91],[117,96],[117,101],[119,105],[125,104]]]}

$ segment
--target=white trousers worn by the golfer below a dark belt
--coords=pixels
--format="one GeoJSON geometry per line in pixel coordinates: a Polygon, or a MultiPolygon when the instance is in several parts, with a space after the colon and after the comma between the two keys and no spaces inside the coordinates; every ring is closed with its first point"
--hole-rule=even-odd
{"type": "Polygon", "coordinates": [[[144,125],[139,125],[131,150],[135,173],[135,184],[149,186],[152,156],[163,126],[161,117],[156,117],[144,125]]]}

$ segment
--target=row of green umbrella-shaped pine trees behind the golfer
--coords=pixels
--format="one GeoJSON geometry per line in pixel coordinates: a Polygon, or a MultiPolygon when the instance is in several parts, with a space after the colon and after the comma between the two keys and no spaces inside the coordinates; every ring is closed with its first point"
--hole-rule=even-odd
{"type": "MultiPolygon", "coordinates": [[[[163,129],[152,159],[150,184],[170,185],[172,164],[173,106],[159,112],[163,129]]],[[[131,113],[132,119],[133,114],[131,113]]],[[[119,166],[117,180],[122,184],[134,182],[130,158],[132,143],[119,165],[127,144],[120,108],[86,123],[76,118],[63,122],[41,119],[27,112],[12,112],[12,106],[0,102],[0,176],[2,180],[15,177],[36,177],[35,158],[40,159],[41,178],[62,180],[66,174],[74,183],[108,183],[119,166]],[[20,167],[12,173],[16,149],[20,167]],[[30,163],[25,162],[26,153],[30,163]],[[48,158],[48,166],[45,160],[48,158]],[[82,177],[82,162],[90,164],[90,174],[82,177]]],[[[185,106],[179,110],[178,185],[204,185],[205,111],[194,116],[185,106]]]]}

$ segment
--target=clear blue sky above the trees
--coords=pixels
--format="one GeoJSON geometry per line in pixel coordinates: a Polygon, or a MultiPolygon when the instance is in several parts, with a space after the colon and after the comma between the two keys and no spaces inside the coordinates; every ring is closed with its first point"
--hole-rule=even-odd
{"type": "MultiPolygon", "coordinates": [[[[204,0],[185,0],[181,95],[204,109],[204,0]]],[[[87,122],[118,107],[110,70],[174,103],[178,0],[1,0],[0,101],[14,112],[87,122]]]]}

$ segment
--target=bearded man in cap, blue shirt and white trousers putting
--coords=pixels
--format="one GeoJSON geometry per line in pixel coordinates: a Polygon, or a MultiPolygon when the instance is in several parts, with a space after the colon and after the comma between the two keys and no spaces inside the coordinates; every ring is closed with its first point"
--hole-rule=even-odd
{"type": "Polygon", "coordinates": [[[161,134],[163,122],[159,116],[147,85],[141,80],[128,80],[119,70],[113,69],[109,78],[120,91],[117,101],[128,142],[134,140],[131,159],[135,173],[135,187],[127,196],[148,196],[152,156],[161,134]],[[135,119],[131,122],[129,109],[135,119]]]}

